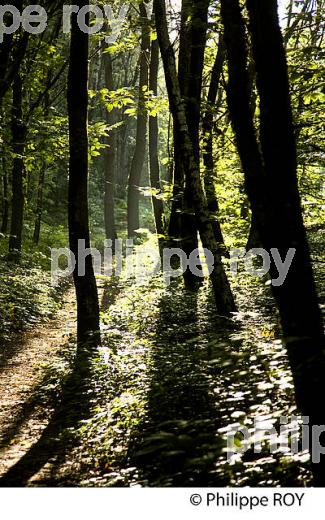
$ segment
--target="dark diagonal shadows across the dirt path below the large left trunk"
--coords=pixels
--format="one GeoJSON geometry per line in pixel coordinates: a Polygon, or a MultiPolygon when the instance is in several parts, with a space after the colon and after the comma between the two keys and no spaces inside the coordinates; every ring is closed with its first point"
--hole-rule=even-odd
{"type": "MultiPolygon", "coordinates": [[[[102,308],[107,308],[117,297],[117,287],[106,285],[102,295],[102,308]]],[[[21,348],[24,345],[21,345],[21,348]]],[[[52,417],[43,430],[39,440],[0,478],[0,487],[23,487],[28,485],[44,466],[51,462],[50,475],[41,478],[41,485],[60,485],[58,469],[63,464],[67,453],[78,444],[75,430],[81,421],[91,415],[94,390],[93,377],[98,360],[98,350],[88,348],[77,349],[71,373],[62,385],[61,396],[52,417]],[[52,480],[53,479],[53,480],[52,480]]],[[[28,420],[35,407],[39,404],[38,393],[44,380],[33,390],[33,395],[21,406],[14,420],[3,432],[1,448],[8,446],[20,427],[28,420]]],[[[69,482],[64,477],[63,485],[69,482]]]]}

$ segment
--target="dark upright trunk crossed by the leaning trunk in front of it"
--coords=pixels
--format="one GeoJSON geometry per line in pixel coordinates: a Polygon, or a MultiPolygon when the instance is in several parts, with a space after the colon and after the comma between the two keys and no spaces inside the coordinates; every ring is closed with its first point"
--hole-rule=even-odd
{"type": "MultiPolygon", "coordinates": [[[[178,56],[178,81],[180,94],[185,102],[190,137],[199,164],[199,124],[204,49],[206,42],[206,18],[208,2],[182,1],[180,43],[178,56]]],[[[193,208],[191,190],[186,180],[181,159],[180,143],[174,129],[174,196],[171,211],[170,231],[181,238],[182,249],[187,256],[198,248],[198,230],[193,208]]],[[[196,290],[201,279],[189,268],[184,272],[185,287],[196,290]]]]}

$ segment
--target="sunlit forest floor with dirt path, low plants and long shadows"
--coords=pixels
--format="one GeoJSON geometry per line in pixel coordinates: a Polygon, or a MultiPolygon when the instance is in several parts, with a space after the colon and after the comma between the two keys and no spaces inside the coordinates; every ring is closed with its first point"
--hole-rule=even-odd
{"type": "MultiPolygon", "coordinates": [[[[313,241],[317,258],[322,238],[313,241]]],[[[324,291],[324,264],[316,269],[324,291]]],[[[252,431],[256,417],[279,431],[280,417],[295,415],[269,288],[244,275],[233,283],[240,312],[226,320],[207,285],[191,294],[160,276],[144,285],[99,279],[102,346],[84,415],[75,413],[80,395],[62,397],[74,371],[74,291],[55,318],[6,334],[0,485],[308,485],[306,453],[270,454],[267,433],[260,453],[226,449],[227,432],[252,431]]]]}

